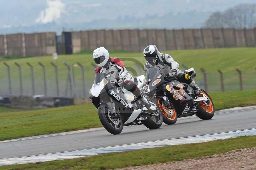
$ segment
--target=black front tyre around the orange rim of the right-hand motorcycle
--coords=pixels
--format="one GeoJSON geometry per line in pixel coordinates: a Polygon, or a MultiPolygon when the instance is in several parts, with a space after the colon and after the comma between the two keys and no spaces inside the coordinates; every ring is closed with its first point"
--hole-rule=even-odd
{"type": "Polygon", "coordinates": [[[162,101],[163,99],[159,98],[159,97],[155,97],[154,98],[155,103],[157,104],[158,108],[160,109],[161,113],[163,114],[163,122],[167,125],[173,125],[176,123],[177,119],[178,119],[178,114],[175,110],[175,108],[173,109],[174,112],[174,118],[171,116],[169,116],[165,111],[164,108],[162,106],[162,101]],[[169,116],[169,117],[168,117],[169,116]]]}

